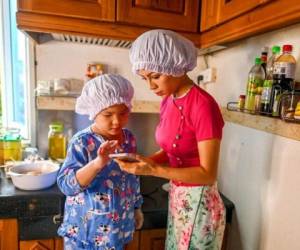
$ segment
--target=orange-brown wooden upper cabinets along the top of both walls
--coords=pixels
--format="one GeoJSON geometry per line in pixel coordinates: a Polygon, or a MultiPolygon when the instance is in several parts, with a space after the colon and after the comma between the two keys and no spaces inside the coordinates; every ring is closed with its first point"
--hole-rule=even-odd
{"type": "Polygon", "coordinates": [[[41,33],[134,40],[166,28],[201,48],[297,22],[299,0],[18,0],[17,12],[18,27],[37,41],[41,33]]]}

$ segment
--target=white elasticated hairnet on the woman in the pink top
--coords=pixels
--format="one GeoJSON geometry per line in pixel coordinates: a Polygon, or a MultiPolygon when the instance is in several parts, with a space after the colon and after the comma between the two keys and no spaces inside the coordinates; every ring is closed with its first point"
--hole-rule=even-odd
{"type": "Polygon", "coordinates": [[[129,55],[132,71],[158,72],[181,76],[197,65],[197,49],[183,36],[170,30],[150,30],[132,44],[129,55]]]}

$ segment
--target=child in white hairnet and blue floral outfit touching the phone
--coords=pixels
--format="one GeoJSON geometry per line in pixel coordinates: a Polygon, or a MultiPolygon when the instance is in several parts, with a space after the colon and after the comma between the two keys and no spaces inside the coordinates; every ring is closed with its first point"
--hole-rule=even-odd
{"type": "Polygon", "coordinates": [[[132,97],[129,81],[106,74],[87,82],[77,99],[76,112],[94,122],[73,136],[57,177],[67,196],[58,230],[67,250],[123,249],[134,228],[142,226],[139,179],[108,157],[117,151],[136,152],[134,136],[123,128],[132,97]]]}

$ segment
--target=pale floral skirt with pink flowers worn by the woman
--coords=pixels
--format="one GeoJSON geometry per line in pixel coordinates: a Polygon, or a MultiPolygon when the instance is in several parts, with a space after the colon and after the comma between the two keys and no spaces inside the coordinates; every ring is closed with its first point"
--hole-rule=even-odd
{"type": "Polygon", "coordinates": [[[166,250],[219,250],[225,209],[213,186],[177,186],[170,181],[166,250]]]}

